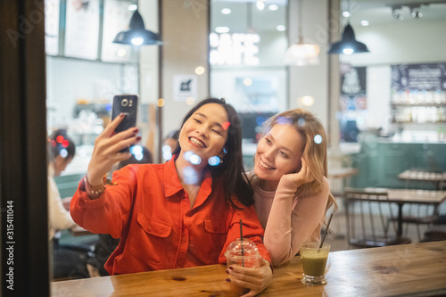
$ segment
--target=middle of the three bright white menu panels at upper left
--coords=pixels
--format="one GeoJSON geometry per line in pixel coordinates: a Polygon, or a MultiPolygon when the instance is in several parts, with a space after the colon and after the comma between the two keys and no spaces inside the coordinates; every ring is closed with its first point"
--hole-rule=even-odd
{"type": "Polygon", "coordinates": [[[96,60],[99,0],[67,0],[65,56],[96,60]]]}

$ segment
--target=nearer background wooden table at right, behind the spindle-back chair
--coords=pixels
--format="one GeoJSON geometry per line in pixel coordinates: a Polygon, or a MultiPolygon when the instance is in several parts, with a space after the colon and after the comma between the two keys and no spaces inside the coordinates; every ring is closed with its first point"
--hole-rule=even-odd
{"type": "Polygon", "coordinates": [[[434,205],[436,211],[438,206],[446,200],[446,191],[409,190],[409,189],[386,189],[367,187],[368,191],[387,192],[389,202],[398,205],[398,230],[397,235],[402,235],[402,206],[406,203],[434,205]]]}

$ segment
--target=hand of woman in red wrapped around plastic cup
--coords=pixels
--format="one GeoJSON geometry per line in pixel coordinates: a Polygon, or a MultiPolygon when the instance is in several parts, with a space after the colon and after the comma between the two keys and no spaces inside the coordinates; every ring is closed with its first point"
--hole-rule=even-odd
{"type": "Polygon", "coordinates": [[[273,272],[269,262],[261,258],[260,263],[261,265],[258,268],[232,265],[227,269],[231,283],[250,289],[250,292],[245,293],[242,297],[256,296],[271,284],[273,272]]]}

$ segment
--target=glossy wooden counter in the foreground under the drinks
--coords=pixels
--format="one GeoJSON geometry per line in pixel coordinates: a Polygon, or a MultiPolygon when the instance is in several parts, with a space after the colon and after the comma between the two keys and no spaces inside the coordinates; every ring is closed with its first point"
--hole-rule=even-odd
{"type": "MultiPolygon", "coordinates": [[[[51,284],[51,296],[230,296],[225,265],[103,276],[51,284]]],[[[275,268],[259,296],[446,294],[446,241],[331,252],[322,286],[301,284],[301,260],[275,268]]]]}

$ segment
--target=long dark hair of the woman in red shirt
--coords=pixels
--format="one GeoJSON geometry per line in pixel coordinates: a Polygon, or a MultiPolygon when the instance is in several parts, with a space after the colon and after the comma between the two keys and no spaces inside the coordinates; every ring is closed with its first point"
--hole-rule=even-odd
{"type": "MultiPolygon", "coordinates": [[[[238,209],[231,198],[232,194],[235,194],[239,202],[242,202],[244,206],[250,206],[254,203],[253,190],[244,173],[242,129],[234,107],[226,103],[225,99],[204,99],[200,103],[197,103],[189,112],[187,112],[183,122],[181,123],[181,128],[183,128],[186,120],[188,120],[195,111],[197,111],[203,105],[209,103],[217,103],[225,108],[230,125],[227,128],[227,141],[225,144],[226,155],[223,157],[223,162],[218,166],[210,166],[208,164],[207,168],[211,171],[213,178],[219,177],[223,180],[225,198],[229,205],[232,205],[238,209]]],[[[173,154],[179,154],[180,152],[181,147],[178,145],[173,154]]]]}

